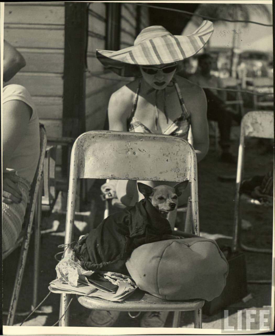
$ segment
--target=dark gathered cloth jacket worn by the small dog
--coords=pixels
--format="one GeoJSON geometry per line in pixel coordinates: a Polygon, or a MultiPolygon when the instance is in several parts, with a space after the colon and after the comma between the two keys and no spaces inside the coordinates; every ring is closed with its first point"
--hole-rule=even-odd
{"type": "Polygon", "coordinates": [[[169,221],[144,199],[108,216],[73,249],[85,269],[125,273],[125,262],[135,248],[164,240],[167,234],[172,234],[169,221]]]}

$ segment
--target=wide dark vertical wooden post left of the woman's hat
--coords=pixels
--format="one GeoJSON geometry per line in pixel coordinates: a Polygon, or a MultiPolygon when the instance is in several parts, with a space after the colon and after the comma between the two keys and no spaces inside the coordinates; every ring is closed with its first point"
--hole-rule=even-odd
{"type": "MultiPolygon", "coordinates": [[[[65,2],[65,47],[62,135],[85,132],[87,3],[65,2]]],[[[68,172],[67,152],[62,151],[62,173],[68,172]]]]}

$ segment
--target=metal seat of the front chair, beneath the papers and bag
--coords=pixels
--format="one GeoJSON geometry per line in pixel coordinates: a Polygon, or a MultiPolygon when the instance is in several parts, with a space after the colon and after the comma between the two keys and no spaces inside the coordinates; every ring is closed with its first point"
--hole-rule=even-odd
{"type": "Polygon", "coordinates": [[[88,309],[119,311],[191,311],[203,307],[204,300],[168,301],[137,289],[129,298],[121,302],[77,295],[78,302],[88,309]]]}

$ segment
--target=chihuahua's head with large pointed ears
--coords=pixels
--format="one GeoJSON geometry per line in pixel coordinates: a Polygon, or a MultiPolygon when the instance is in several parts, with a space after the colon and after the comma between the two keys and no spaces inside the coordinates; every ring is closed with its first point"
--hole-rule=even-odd
{"type": "Polygon", "coordinates": [[[169,212],[178,207],[178,197],[186,189],[188,180],[180,182],[173,187],[169,185],[158,185],[154,188],[147,184],[137,182],[139,191],[145,198],[150,200],[162,217],[167,218],[169,212]]]}

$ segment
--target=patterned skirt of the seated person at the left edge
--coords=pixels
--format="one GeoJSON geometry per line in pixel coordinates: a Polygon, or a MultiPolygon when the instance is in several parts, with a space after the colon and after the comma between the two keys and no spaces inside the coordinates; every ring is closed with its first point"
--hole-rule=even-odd
{"type": "MultiPolygon", "coordinates": [[[[6,175],[6,174],[5,174],[6,175]]],[[[17,179],[17,186],[22,193],[20,203],[6,204],[2,202],[2,251],[9,250],[16,242],[22,228],[29,198],[31,184],[16,173],[9,173],[17,179]]],[[[8,176],[7,176],[8,177],[8,176]]]]}

